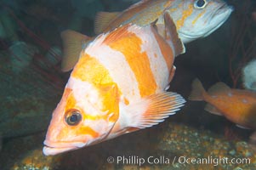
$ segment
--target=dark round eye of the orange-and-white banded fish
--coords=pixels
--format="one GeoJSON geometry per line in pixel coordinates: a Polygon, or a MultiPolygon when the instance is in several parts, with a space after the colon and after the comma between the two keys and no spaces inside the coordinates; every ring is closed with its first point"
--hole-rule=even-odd
{"type": "Polygon", "coordinates": [[[70,126],[76,126],[82,120],[82,115],[77,110],[65,112],[65,122],[70,126]]]}

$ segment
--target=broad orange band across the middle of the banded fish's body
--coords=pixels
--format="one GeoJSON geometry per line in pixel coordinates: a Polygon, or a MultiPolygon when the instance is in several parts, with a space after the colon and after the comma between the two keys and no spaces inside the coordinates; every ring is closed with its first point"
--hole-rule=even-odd
{"type": "MultiPolygon", "coordinates": [[[[124,28],[120,29],[122,31],[124,28]]],[[[151,71],[151,63],[145,52],[141,53],[142,41],[133,32],[124,31],[122,36],[128,34],[125,37],[117,38],[113,36],[120,36],[118,34],[111,35],[111,39],[115,39],[115,42],[108,42],[108,37],[106,37],[106,43],[114,50],[120,51],[128,61],[128,65],[132,71],[139,84],[139,93],[141,97],[152,94],[156,92],[156,81],[151,71]],[[132,47],[132,48],[131,48],[132,47]],[[130,49],[129,49],[130,48],[130,49]],[[143,68],[141,68],[143,67],[143,68]],[[141,74],[141,70],[145,71],[146,76],[141,74]]]]}

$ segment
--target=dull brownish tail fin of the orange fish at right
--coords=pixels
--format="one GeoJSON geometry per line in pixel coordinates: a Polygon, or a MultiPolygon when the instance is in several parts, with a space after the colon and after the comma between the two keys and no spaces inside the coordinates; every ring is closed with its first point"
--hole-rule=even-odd
{"type": "Polygon", "coordinates": [[[195,100],[195,101],[203,100],[203,94],[205,94],[205,93],[206,93],[206,91],[202,87],[202,82],[200,82],[200,80],[198,78],[196,78],[192,82],[192,91],[191,91],[191,95],[189,96],[189,99],[195,100]]]}

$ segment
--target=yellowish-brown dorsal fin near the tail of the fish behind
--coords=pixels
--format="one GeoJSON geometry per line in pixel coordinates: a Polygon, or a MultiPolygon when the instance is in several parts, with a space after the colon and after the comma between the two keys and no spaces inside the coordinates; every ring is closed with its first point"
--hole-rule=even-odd
{"type": "Polygon", "coordinates": [[[99,12],[95,16],[94,20],[94,32],[95,34],[100,34],[105,30],[107,26],[111,23],[111,20],[115,20],[121,12],[99,12]]]}

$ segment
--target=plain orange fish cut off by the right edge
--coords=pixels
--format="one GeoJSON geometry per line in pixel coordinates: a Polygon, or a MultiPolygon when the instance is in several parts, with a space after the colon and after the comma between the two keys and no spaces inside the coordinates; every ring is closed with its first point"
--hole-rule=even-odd
{"type": "MultiPolygon", "coordinates": [[[[244,89],[228,87],[224,82],[217,82],[208,92],[202,87],[202,82],[195,79],[192,82],[190,100],[208,102],[205,111],[218,116],[225,116],[237,127],[256,130],[256,93],[244,89]]],[[[256,142],[256,132],[251,136],[256,142]]]]}

